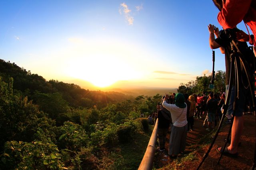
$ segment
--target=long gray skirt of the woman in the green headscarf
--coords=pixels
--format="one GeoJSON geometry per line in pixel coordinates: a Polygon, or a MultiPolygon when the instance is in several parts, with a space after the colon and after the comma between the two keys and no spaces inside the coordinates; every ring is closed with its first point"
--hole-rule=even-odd
{"type": "Polygon", "coordinates": [[[188,124],[183,127],[172,126],[172,132],[169,143],[169,155],[178,155],[186,147],[188,124]]]}

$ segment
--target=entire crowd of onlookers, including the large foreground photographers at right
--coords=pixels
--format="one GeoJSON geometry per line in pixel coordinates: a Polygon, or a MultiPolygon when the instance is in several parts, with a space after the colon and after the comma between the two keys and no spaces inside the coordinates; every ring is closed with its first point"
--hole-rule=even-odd
{"type": "MultiPolygon", "coordinates": [[[[249,106],[246,104],[246,101],[249,101],[248,96],[254,89],[247,88],[245,85],[240,86],[239,83],[244,84],[247,81],[248,87],[249,84],[252,85],[256,70],[253,67],[256,56],[256,40],[254,38],[256,36],[256,0],[213,0],[213,2],[220,10],[217,20],[223,30],[219,31],[214,25],[209,24],[209,44],[211,49],[220,49],[225,54],[226,92],[231,91],[230,98],[225,105],[225,92],[220,95],[210,92],[208,95],[194,94],[191,96],[178,93],[172,97],[166,94],[162,99],[161,106],[158,106],[156,114],[160,151],[165,149],[168,123],[171,126],[168,150],[171,157],[176,157],[184,151],[186,135],[189,130],[193,131],[194,129],[194,118],[201,119],[202,115],[206,115],[203,126],[207,131],[211,131],[220,120],[223,110],[228,117],[225,123],[233,121],[231,139],[226,139],[229,140],[230,145],[226,148],[217,147],[216,150],[226,156],[237,157],[244,124],[243,114],[247,108],[249,108],[249,112],[255,111],[250,109],[250,104],[249,106]],[[236,27],[241,21],[244,21],[246,27],[247,25],[250,27],[254,36],[247,35],[236,27]],[[253,52],[248,48],[246,41],[253,45],[253,52]],[[236,57],[234,57],[235,55],[236,57]],[[236,71],[232,71],[234,67],[236,71]],[[238,73],[240,76],[237,76],[238,73]]],[[[251,101],[256,101],[256,96],[251,96],[251,101]]],[[[256,160],[251,169],[256,169],[256,160]]]]}

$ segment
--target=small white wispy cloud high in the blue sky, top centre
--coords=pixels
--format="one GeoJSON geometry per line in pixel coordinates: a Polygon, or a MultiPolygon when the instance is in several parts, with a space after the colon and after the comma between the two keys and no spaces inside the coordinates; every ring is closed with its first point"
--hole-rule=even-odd
{"type": "MultiPolygon", "coordinates": [[[[143,9],[142,4],[140,6],[135,6],[136,11],[140,11],[143,9]]],[[[120,4],[119,14],[122,15],[124,14],[126,21],[128,21],[129,25],[133,25],[134,23],[134,17],[131,15],[132,10],[129,9],[128,5],[125,3],[120,4]]]]}

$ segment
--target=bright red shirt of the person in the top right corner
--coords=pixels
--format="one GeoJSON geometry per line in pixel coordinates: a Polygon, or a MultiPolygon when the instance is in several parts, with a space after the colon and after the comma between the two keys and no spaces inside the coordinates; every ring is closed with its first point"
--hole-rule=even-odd
{"type": "Polygon", "coordinates": [[[256,0],[226,0],[218,14],[218,22],[223,29],[234,28],[242,20],[249,25],[256,37],[256,0]]]}

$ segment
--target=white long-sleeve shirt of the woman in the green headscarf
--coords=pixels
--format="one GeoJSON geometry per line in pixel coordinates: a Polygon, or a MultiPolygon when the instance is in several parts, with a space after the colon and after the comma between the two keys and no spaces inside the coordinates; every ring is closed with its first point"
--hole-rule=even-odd
{"type": "Polygon", "coordinates": [[[187,106],[184,108],[180,108],[175,104],[168,104],[166,101],[163,102],[163,107],[171,112],[173,125],[176,127],[185,126],[187,121],[187,106]]]}

